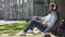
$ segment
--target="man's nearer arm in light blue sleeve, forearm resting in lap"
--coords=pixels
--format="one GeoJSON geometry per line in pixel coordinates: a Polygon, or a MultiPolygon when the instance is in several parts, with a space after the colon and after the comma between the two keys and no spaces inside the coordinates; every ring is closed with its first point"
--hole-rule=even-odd
{"type": "MultiPolygon", "coordinates": [[[[47,18],[48,18],[48,17],[47,17],[47,18]]],[[[56,15],[53,15],[53,16],[51,16],[48,21],[42,22],[42,25],[43,25],[43,26],[49,26],[49,27],[51,27],[51,26],[54,25],[54,23],[56,22],[56,20],[57,20],[57,16],[56,16],[56,15]]]]}

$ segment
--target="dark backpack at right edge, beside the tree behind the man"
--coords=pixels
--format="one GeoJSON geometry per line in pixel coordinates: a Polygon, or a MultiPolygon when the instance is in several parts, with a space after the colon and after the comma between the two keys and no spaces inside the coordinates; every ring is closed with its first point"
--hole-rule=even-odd
{"type": "Polygon", "coordinates": [[[62,18],[60,26],[57,28],[58,36],[65,36],[65,18],[62,18]]]}

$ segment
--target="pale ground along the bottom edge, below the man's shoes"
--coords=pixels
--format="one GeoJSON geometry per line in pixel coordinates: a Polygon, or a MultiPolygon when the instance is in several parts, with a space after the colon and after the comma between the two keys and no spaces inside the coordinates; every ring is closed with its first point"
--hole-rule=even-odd
{"type": "MultiPolygon", "coordinates": [[[[2,35],[0,35],[0,37],[43,37],[43,36],[42,35],[34,35],[34,34],[26,34],[26,36],[17,36],[17,35],[10,36],[9,34],[2,34],[2,35]]],[[[55,37],[55,36],[51,35],[51,37],[55,37]]]]}

